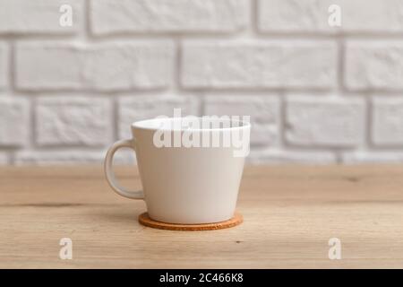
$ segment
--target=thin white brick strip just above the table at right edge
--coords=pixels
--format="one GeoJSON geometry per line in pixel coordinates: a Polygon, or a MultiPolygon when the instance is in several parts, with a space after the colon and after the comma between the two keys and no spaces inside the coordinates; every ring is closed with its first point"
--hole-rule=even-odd
{"type": "Polygon", "coordinates": [[[345,164],[401,163],[403,162],[403,152],[345,152],[341,159],[345,164]]]}

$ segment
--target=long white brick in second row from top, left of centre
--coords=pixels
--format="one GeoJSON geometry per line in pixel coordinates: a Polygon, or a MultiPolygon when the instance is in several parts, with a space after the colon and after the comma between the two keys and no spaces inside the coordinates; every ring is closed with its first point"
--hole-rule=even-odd
{"type": "Polygon", "coordinates": [[[17,46],[16,85],[33,91],[163,88],[172,78],[173,52],[172,43],[164,40],[89,47],[22,43],[17,46]]]}

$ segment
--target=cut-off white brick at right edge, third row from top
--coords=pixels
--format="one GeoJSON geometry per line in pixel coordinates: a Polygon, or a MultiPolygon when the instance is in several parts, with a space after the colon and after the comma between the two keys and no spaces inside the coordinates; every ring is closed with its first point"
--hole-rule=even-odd
{"type": "Polygon", "coordinates": [[[373,100],[372,136],[376,145],[403,144],[403,99],[373,100]]]}

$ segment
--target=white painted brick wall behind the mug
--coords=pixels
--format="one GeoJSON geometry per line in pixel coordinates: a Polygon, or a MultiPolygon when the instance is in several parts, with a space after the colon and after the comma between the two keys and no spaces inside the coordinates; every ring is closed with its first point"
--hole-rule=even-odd
{"type": "Polygon", "coordinates": [[[401,0],[0,0],[0,164],[99,164],[175,108],[251,116],[251,163],[403,162],[402,34],[401,0]]]}

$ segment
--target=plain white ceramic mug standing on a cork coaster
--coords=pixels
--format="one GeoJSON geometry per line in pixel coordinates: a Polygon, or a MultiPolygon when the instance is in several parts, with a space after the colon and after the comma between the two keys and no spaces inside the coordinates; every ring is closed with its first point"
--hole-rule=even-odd
{"type": "MultiPolygon", "coordinates": [[[[198,119],[201,121],[201,117],[198,119]]],[[[133,123],[133,138],[118,141],[107,151],[107,182],[121,196],[143,199],[150,218],[155,221],[183,224],[227,221],[235,212],[247,153],[236,155],[240,146],[239,142],[235,144],[235,140],[229,145],[222,142],[219,146],[211,145],[214,136],[216,139],[217,136],[221,136],[221,139],[225,136],[235,139],[241,135],[249,152],[251,126],[247,122],[229,119],[227,127],[185,129],[183,126],[177,127],[178,121],[183,123],[180,117],[154,118],[133,123]],[[156,144],[156,135],[161,131],[171,136],[172,145],[179,138],[175,139],[175,136],[187,133],[195,136],[192,139],[199,135],[206,140],[205,143],[209,139],[210,147],[206,147],[207,144],[196,147],[184,144],[179,147],[161,147],[156,144]],[[121,147],[132,148],[136,153],[142,191],[128,191],[116,183],[112,162],[115,152],[121,147]]],[[[167,140],[166,137],[164,139],[167,140]]]]}

